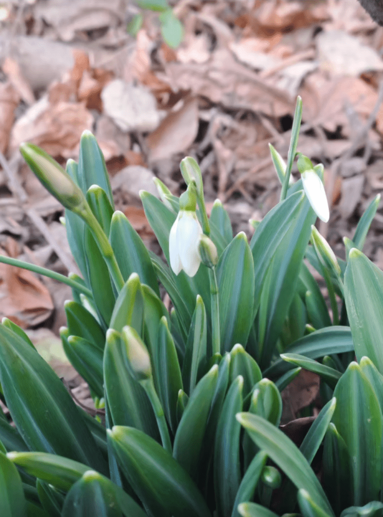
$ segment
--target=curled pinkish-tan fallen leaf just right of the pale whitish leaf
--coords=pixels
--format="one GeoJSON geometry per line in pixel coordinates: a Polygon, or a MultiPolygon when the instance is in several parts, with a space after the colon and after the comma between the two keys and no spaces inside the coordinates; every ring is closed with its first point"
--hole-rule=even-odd
{"type": "Polygon", "coordinates": [[[188,149],[198,131],[198,103],[188,99],[177,111],[171,111],[158,128],[146,139],[149,159],[152,161],[168,158],[188,149]]]}

